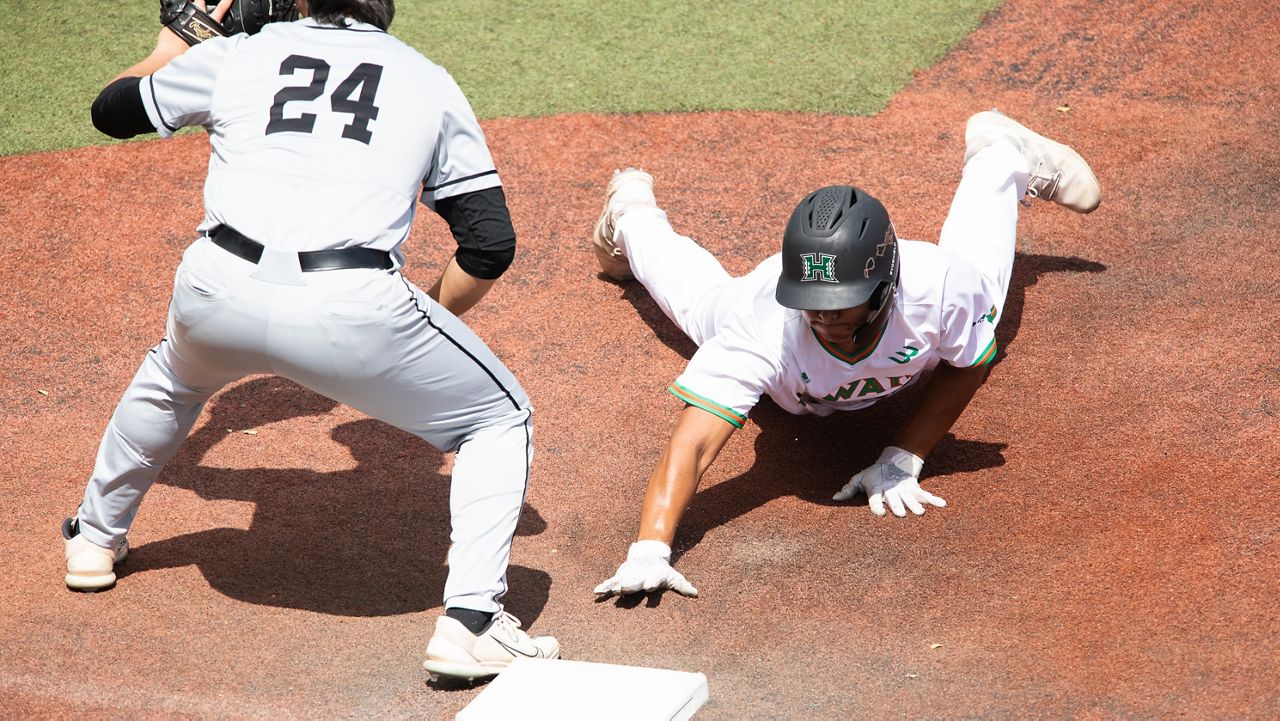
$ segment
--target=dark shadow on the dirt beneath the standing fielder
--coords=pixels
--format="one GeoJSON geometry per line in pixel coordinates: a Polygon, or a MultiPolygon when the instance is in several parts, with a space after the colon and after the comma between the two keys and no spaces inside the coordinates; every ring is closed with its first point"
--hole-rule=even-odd
{"type": "MultiPolygon", "coordinates": [[[[333,429],[333,439],[351,450],[351,470],[201,465],[228,429],[326,414],[334,406],[283,378],[255,379],[216,396],[207,423],[187,439],[159,483],[206,499],[255,503],[248,529],[216,528],[147,543],[131,551],[122,575],[196,565],[214,589],[238,601],[339,616],[439,606],[449,547],[449,478],[439,473],[443,453],[420,438],[366,419],[333,429]]],[[[297,438],[270,439],[291,441],[297,438]]],[[[526,505],[517,535],[545,528],[526,505]]],[[[507,580],[511,590],[503,603],[527,628],[547,603],[550,576],[512,565],[507,580]]]]}

